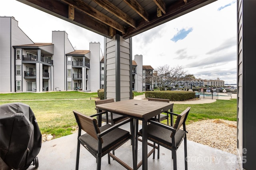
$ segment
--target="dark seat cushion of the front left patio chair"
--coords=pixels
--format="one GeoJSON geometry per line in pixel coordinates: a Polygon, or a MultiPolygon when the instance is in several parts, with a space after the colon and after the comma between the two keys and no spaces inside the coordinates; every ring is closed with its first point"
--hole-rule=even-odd
{"type": "MultiPolygon", "coordinates": [[[[106,124],[100,128],[100,131],[104,131],[108,128],[110,128],[112,125],[106,124]]],[[[103,143],[102,143],[102,154],[108,153],[110,150],[112,150],[112,146],[122,144],[122,142],[128,141],[130,139],[130,133],[128,131],[125,131],[120,128],[116,128],[113,131],[110,131],[106,135],[102,137],[103,143]],[[120,142],[121,141],[121,142],[120,142]]],[[[87,149],[89,148],[94,152],[96,155],[98,150],[98,140],[94,139],[87,133],[84,135],[81,135],[78,140],[84,147],[87,149]]],[[[103,156],[102,155],[102,156],[103,156]]]]}

